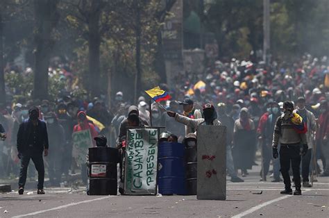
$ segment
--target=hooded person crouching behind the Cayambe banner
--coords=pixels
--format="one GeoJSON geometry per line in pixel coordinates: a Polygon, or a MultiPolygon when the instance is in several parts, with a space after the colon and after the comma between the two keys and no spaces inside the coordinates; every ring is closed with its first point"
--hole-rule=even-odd
{"type": "Polygon", "coordinates": [[[128,108],[127,118],[121,121],[119,135],[117,137],[117,147],[119,146],[123,136],[127,134],[128,126],[149,126],[149,123],[140,117],[140,110],[138,110],[137,106],[130,106],[128,108]]]}

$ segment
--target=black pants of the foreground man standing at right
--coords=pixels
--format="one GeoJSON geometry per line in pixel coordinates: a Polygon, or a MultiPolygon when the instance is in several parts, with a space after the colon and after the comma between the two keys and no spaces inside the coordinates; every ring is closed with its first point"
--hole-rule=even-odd
{"type": "Polygon", "coordinates": [[[292,163],[292,174],[294,176],[294,183],[297,188],[301,188],[301,175],[299,166],[301,165],[301,155],[300,146],[287,146],[282,145],[280,147],[280,167],[281,174],[283,177],[283,183],[285,183],[285,188],[290,188],[291,181],[289,176],[290,162],[292,163]]]}

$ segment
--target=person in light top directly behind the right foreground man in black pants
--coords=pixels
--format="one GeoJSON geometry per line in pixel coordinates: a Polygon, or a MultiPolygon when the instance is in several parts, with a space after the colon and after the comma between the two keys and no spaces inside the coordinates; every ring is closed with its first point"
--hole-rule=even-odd
{"type": "Polygon", "coordinates": [[[307,126],[307,145],[308,150],[302,158],[302,177],[303,177],[303,187],[312,187],[309,181],[309,174],[310,174],[310,163],[311,163],[311,157],[313,152],[313,136],[315,134],[315,131],[317,131],[317,121],[315,119],[315,116],[310,110],[307,110],[305,108],[305,98],[299,97],[297,100],[297,109],[296,113],[300,115],[303,118],[303,121],[305,122],[307,126]]]}

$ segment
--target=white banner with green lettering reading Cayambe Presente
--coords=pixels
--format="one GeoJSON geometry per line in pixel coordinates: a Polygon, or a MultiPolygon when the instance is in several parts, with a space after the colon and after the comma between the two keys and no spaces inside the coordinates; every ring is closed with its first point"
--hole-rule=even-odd
{"type": "Polygon", "coordinates": [[[158,128],[127,131],[124,194],[157,194],[158,128]]]}

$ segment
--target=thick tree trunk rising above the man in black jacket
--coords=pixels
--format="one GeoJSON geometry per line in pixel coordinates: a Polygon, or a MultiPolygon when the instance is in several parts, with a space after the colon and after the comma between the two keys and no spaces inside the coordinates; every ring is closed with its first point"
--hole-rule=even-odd
{"type": "Polygon", "coordinates": [[[34,99],[48,98],[48,67],[53,49],[51,31],[58,23],[58,0],[35,0],[35,72],[33,85],[34,99]]]}

